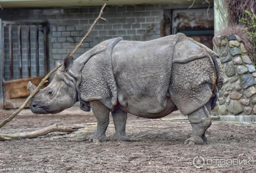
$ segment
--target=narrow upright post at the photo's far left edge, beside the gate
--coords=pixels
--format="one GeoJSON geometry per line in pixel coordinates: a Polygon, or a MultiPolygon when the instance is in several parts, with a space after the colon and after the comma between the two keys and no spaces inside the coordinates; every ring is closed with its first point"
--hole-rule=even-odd
{"type": "Polygon", "coordinates": [[[3,95],[3,26],[0,19],[0,109],[4,108],[4,95],[3,95]]]}

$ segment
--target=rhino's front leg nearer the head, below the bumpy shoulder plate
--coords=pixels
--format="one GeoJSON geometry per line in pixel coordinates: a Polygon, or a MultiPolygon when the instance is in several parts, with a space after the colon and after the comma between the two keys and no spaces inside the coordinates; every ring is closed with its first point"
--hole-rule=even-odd
{"type": "Polygon", "coordinates": [[[96,133],[90,138],[92,142],[102,142],[108,141],[108,137],[106,136],[106,130],[109,124],[109,109],[105,107],[100,101],[91,101],[90,102],[91,109],[93,110],[93,114],[97,119],[97,130],[96,133]]]}

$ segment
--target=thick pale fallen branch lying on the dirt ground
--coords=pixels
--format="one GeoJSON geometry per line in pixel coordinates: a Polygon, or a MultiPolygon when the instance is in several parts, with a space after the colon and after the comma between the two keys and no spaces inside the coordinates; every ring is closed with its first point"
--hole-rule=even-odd
{"type": "Polygon", "coordinates": [[[20,132],[14,134],[0,134],[0,141],[10,141],[12,139],[22,139],[22,138],[36,138],[38,136],[43,136],[52,132],[74,132],[77,129],[84,128],[84,126],[63,126],[63,125],[51,125],[45,127],[44,129],[36,130],[33,132],[20,132]]]}

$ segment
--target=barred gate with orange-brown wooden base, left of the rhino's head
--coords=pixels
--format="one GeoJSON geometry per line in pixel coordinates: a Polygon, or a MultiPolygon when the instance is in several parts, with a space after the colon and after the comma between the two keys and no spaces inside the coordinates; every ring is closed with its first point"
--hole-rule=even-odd
{"type": "Polygon", "coordinates": [[[47,23],[1,23],[3,107],[16,108],[29,95],[28,82],[38,85],[49,71],[49,27],[47,23]]]}

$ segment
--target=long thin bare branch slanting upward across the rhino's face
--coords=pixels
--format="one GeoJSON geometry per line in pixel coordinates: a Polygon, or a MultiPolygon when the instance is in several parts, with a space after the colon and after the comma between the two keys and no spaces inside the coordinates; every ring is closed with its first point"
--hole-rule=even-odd
{"type": "MultiPolygon", "coordinates": [[[[105,8],[106,3],[102,6],[99,16],[94,20],[93,24],[91,25],[90,29],[87,31],[86,35],[84,35],[84,37],[81,39],[81,41],[79,42],[79,44],[76,46],[76,48],[70,53],[70,55],[68,55],[69,57],[71,57],[76,50],[82,45],[83,41],[85,40],[85,38],[90,34],[90,32],[92,31],[94,25],[97,23],[97,21],[99,19],[103,19],[104,18],[101,17],[102,13],[103,13],[103,9],[105,8]]],[[[22,106],[16,110],[15,112],[12,113],[11,116],[9,116],[8,118],[6,118],[5,120],[3,120],[3,122],[0,124],[0,128],[2,128],[6,123],[8,123],[9,121],[12,120],[12,118],[14,118],[18,113],[20,113],[21,110],[23,110],[26,105],[29,103],[29,101],[36,95],[36,93],[39,91],[39,89],[45,84],[45,82],[47,81],[47,79],[52,75],[52,73],[54,73],[59,67],[61,67],[63,64],[63,62],[61,64],[59,64],[58,66],[56,66],[54,69],[52,69],[52,71],[50,71],[40,82],[40,84],[37,86],[37,88],[35,89],[35,91],[29,95],[29,97],[26,99],[26,101],[22,104],[22,106]]]]}

